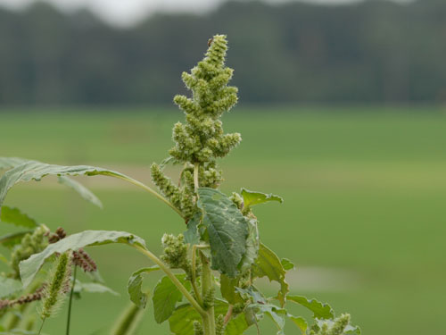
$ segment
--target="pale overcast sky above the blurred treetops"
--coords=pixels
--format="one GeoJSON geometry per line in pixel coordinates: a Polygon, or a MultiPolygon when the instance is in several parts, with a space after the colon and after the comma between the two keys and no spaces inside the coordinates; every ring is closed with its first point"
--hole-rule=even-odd
{"type": "MultiPolygon", "coordinates": [[[[20,9],[37,0],[0,0],[0,5],[20,9]]],[[[45,0],[55,4],[63,11],[73,11],[87,7],[105,21],[120,25],[129,25],[143,19],[148,13],[210,11],[225,0],[45,0]]],[[[279,4],[293,0],[264,0],[279,4]]],[[[341,4],[359,0],[304,0],[310,3],[341,4]]]]}

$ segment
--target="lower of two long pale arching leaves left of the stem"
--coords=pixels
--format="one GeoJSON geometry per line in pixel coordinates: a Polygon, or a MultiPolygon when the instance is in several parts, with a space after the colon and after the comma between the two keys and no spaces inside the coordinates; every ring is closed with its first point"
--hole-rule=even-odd
{"type": "Polygon", "coordinates": [[[44,251],[31,255],[27,260],[22,261],[19,267],[23,287],[27,288],[29,286],[40,267],[44,264],[45,259],[54,255],[54,253],[62,254],[65,251],[77,250],[80,247],[101,246],[110,243],[124,243],[145,248],[144,239],[126,231],[84,230],[50,244],[44,251]]]}

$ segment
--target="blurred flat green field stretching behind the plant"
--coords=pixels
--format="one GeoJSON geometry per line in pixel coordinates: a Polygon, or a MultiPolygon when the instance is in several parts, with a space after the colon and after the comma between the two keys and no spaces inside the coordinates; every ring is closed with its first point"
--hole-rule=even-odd
{"type": "MultiPolygon", "coordinates": [[[[47,163],[87,163],[149,182],[148,166],[171,146],[174,110],[81,113],[0,112],[0,155],[47,163]]],[[[283,205],[259,206],[260,238],[293,260],[293,293],[350,312],[363,334],[441,334],[446,296],[446,113],[434,108],[346,111],[235,108],[225,130],[244,138],[222,166],[222,190],[273,192],[283,205]]],[[[174,175],[175,171],[171,171],[174,175]]],[[[100,210],[51,178],[13,188],[7,205],[55,229],[128,230],[160,252],[164,231],[185,230],[169,207],[119,180],[79,178],[100,210]]],[[[8,227],[9,228],[9,227],[8,227]]],[[[6,231],[1,227],[1,232],[6,231]]],[[[4,251],[4,250],[2,250],[4,251]]],[[[126,247],[90,248],[120,297],[75,301],[73,335],[107,330],[128,304],[128,276],[146,261],[126,247]]],[[[147,279],[148,288],[159,279],[147,279]]],[[[305,311],[295,307],[296,314],[305,311]]],[[[63,332],[65,310],[45,323],[63,332]]],[[[263,322],[262,322],[263,323],[263,322]]],[[[268,321],[263,334],[275,333],[268,321]]],[[[167,334],[147,306],[138,334],[167,334]]],[[[255,333],[255,332],[250,332],[255,333]]],[[[287,324],[287,334],[298,334],[287,324]]]]}

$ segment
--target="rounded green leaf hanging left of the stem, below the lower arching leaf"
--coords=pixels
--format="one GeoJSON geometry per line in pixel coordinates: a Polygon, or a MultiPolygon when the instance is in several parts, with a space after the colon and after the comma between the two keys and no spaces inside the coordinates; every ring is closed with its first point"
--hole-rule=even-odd
{"type": "MultiPolygon", "coordinates": [[[[177,274],[178,280],[181,281],[186,289],[190,289],[190,282],[186,281],[186,274],[177,274]]],[[[169,319],[170,315],[175,310],[175,306],[183,299],[183,294],[170,281],[169,277],[164,276],[161,281],[158,281],[153,290],[153,314],[155,321],[158,323],[169,319]]]]}

